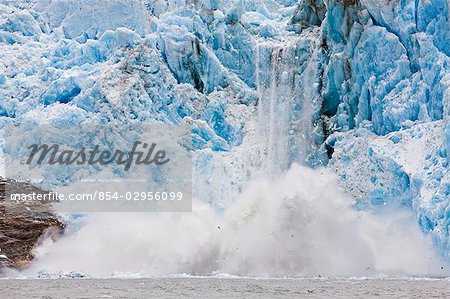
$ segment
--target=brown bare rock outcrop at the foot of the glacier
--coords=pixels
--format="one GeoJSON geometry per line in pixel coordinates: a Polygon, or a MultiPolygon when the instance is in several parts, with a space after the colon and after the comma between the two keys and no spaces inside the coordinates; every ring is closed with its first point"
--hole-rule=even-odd
{"type": "Polygon", "coordinates": [[[33,259],[33,249],[44,237],[57,238],[64,223],[45,201],[11,201],[8,194],[47,194],[29,184],[0,178],[0,270],[23,269],[33,259]]]}

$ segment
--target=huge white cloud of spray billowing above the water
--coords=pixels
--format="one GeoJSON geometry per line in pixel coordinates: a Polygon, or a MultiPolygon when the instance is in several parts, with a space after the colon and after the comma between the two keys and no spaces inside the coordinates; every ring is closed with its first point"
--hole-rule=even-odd
{"type": "Polygon", "coordinates": [[[197,202],[192,213],[92,214],[45,241],[27,273],[443,275],[412,216],[374,218],[349,202],[331,172],[294,164],[276,182],[250,184],[225,212],[197,202]]]}

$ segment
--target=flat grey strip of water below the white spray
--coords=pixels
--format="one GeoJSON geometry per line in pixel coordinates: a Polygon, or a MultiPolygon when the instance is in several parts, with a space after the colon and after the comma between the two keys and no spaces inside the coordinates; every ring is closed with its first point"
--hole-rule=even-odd
{"type": "Polygon", "coordinates": [[[450,298],[449,279],[37,279],[0,280],[1,299],[450,298]]]}

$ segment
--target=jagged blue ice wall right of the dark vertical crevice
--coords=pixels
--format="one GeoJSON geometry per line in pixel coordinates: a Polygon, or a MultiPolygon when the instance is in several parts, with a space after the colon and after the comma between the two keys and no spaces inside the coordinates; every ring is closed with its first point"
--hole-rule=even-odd
{"type": "Polygon", "coordinates": [[[448,5],[328,3],[322,25],[331,53],[323,107],[332,131],[347,131],[327,141],[331,164],[360,203],[413,207],[447,258],[448,5]]]}

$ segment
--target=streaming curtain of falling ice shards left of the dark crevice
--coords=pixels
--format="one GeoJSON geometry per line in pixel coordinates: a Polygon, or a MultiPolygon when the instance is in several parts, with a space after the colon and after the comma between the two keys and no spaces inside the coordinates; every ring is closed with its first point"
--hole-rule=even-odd
{"type": "Polygon", "coordinates": [[[258,122],[263,165],[269,173],[284,172],[294,162],[308,164],[315,150],[318,69],[305,40],[258,45],[258,122]]]}

